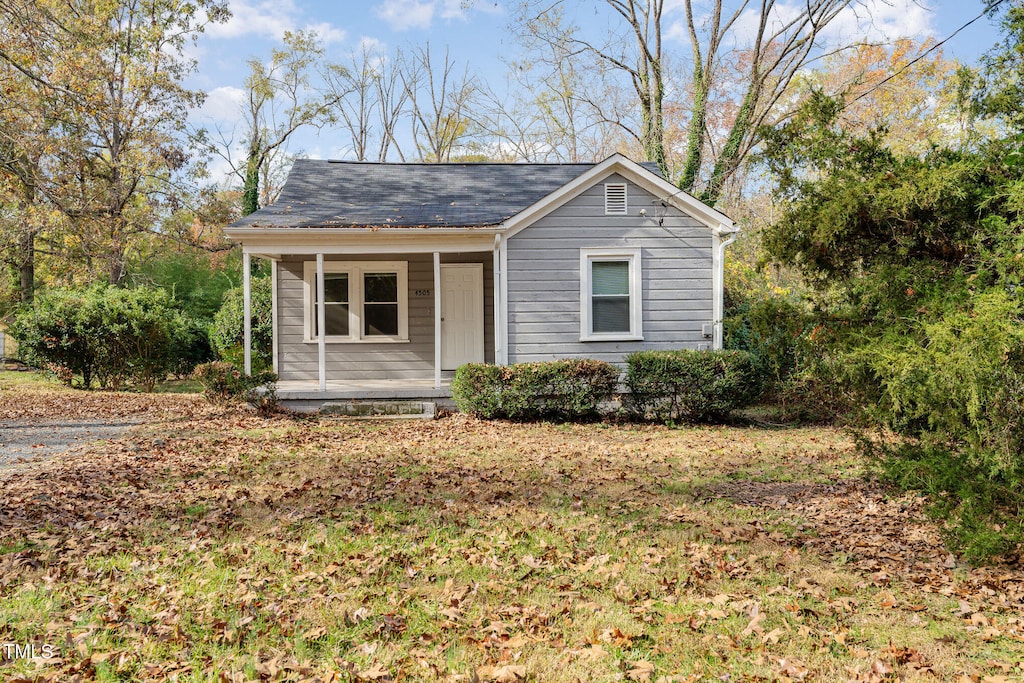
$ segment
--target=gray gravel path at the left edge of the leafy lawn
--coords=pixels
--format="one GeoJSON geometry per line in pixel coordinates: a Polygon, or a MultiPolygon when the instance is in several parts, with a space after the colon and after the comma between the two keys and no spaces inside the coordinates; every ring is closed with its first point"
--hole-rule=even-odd
{"type": "Polygon", "coordinates": [[[118,438],[141,422],[138,418],[0,421],[0,472],[93,441],[118,438]]]}

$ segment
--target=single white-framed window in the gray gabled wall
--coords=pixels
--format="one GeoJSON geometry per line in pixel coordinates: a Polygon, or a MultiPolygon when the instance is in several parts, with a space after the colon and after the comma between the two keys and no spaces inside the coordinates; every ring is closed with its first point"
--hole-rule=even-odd
{"type": "Polygon", "coordinates": [[[580,339],[643,338],[639,249],[580,250],[580,339]]]}

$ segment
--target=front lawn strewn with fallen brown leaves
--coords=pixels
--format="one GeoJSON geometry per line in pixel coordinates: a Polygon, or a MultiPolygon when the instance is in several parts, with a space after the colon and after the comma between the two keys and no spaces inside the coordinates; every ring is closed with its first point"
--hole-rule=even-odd
{"type": "Polygon", "coordinates": [[[836,430],[174,398],[119,442],[0,473],[0,643],[57,655],[0,678],[1024,676],[1024,572],[957,564],[836,430]]]}

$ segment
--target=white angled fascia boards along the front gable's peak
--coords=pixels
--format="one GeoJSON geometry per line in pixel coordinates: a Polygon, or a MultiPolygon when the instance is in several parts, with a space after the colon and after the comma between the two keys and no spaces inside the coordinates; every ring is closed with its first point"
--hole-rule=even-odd
{"type": "Polygon", "coordinates": [[[503,223],[503,227],[506,230],[505,237],[510,238],[534,224],[540,218],[579,197],[613,173],[620,174],[638,187],[647,190],[680,211],[693,216],[716,232],[732,232],[735,229],[732,219],[725,214],[716,211],[692,195],[679,189],[679,187],[676,187],[659,175],[648,171],[643,166],[640,166],[640,164],[623,155],[614,154],[506,220],[503,223]]]}

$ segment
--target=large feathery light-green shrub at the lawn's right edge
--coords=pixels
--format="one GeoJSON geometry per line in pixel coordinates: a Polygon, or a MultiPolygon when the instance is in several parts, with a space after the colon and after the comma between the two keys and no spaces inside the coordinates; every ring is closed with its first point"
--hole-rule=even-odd
{"type": "Polygon", "coordinates": [[[847,354],[867,416],[897,436],[861,447],[890,480],[929,494],[954,550],[1014,557],[1024,547],[1024,302],[989,289],[928,303],[931,319],[847,354]]]}

